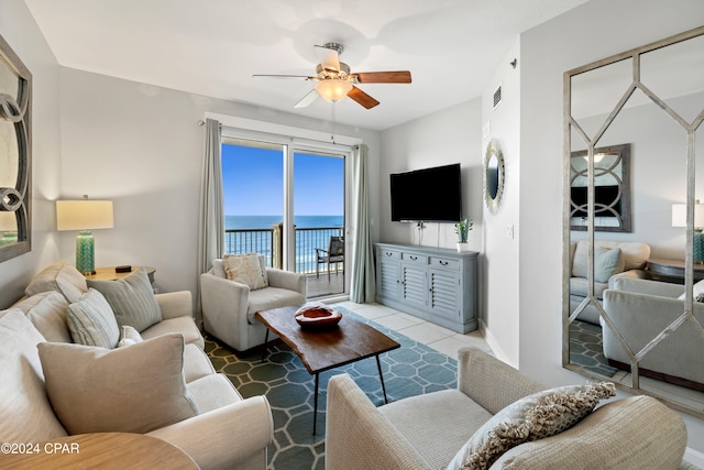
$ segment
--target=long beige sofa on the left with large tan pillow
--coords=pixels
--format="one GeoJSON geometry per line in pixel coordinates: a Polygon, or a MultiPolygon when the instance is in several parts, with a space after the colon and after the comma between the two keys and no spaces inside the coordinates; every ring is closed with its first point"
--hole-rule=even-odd
{"type": "Polygon", "coordinates": [[[179,447],[201,469],[265,469],[270,405],[264,396],[243,400],[216,373],[193,320],[190,292],[156,295],[162,321],[141,331],[142,342],[110,350],[70,345],[67,307],[87,289],[75,267],[57,263],[32,281],[26,297],[0,311],[0,441],[51,441],[76,434],[72,428],[125,431],[146,419],[139,406],[148,406],[164,408],[163,425],[142,423],[146,434],[179,447]],[[86,354],[94,356],[81,362],[86,354]],[[62,384],[62,375],[72,374],[80,382],[73,390],[62,384]],[[122,374],[130,380],[123,383],[122,374]],[[136,392],[140,386],[147,389],[136,392]],[[169,387],[183,387],[184,400],[169,387]],[[96,391],[103,395],[91,403],[86,396],[96,391]],[[178,403],[165,408],[174,394],[178,403]],[[90,406],[97,406],[95,416],[90,406]]]}

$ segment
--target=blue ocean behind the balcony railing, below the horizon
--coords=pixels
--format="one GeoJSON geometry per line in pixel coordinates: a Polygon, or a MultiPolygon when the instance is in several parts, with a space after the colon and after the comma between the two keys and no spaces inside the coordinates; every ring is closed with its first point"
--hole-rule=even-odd
{"type": "MultiPolygon", "coordinates": [[[[272,227],[282,216],[226,216],[226,230],[257,230],[226,233],[226,253],[260,253],[272,266],[272,227]]],[[[296,272],[316,271],[316,249],[328,249],[330,237],[342,234],[343,216],[296,216],[296,272]]],[[[321,266],[324,269],[324,265],[321,266]]]]}

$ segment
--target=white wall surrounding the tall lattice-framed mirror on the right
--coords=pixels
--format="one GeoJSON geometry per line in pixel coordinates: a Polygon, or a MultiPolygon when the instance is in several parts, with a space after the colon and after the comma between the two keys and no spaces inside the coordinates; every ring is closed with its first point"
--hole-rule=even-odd
{"type": "MultiPolygon", "coordinates": [[[[580,380],[561,367],[562,74],[703,20],[700,0],[591,0],[521,35],[520,369],[538,380],[580,380]]],[[[704,423],[683,417],[704,451],[704,423]]]]}

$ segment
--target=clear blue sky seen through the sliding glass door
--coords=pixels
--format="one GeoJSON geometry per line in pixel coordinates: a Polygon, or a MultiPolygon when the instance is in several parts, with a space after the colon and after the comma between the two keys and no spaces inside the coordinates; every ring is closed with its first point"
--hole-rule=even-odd
{"type": "MultiPolygon", "coordinates": [[[[226,216],[277,216],[284,212],[284,152],[222,145],[226,216]]],[[[294,154],[294,214],[344,212],[344,160],[294,154]]]]}

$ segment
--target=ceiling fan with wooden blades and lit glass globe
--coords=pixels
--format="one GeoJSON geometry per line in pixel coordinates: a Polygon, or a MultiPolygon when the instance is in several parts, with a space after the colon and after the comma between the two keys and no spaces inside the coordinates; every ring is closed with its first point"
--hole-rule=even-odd
{"type": "Polygon", "coordinates": [[[340,62],[340,54],[344,47],[338,43],[327,43],[315,46],[320,64],[316,67],[316,76],[306,75],[253,75],[253,77],[305,78],[316,81],[316,87],[302,97],[295,108],[305,108],[322,97],[328,102],[336,103],[345,96],[359,102],[366,109],[374,108],[378,101],[360,88],[356,84],[410,84],[410,72],[358,72],[351,73],[350,66],[340,62]]]}

